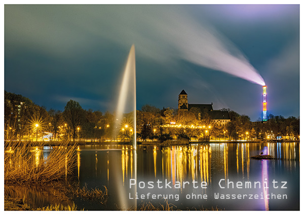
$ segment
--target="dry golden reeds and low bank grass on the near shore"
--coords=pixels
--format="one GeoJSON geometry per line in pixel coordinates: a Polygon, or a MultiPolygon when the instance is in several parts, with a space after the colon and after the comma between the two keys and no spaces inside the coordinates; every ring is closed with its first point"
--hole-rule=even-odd
{"type": "MultiPolygon", "coordinates": [[[[55,189],[52,195],[68,205],[54,204],[35,210],[76,210],[74,200],[97,201],[105,204],[108,192],[106,187],[88,189],[79,184],[69,184],[66,179],[76,166],[76,144],[63,142],[58,146],[45,146],[43,142],[11,141],[5,143],[4,181],[6,186],[43,186],[55,189]]],[[[8,188],[9,189],[9,188],[8,188]]],[[[10,189],[9,189],[10,190],[10,189]]],[[[20,199],[5,195],[7,210],[33,210],[20,199]]]]}

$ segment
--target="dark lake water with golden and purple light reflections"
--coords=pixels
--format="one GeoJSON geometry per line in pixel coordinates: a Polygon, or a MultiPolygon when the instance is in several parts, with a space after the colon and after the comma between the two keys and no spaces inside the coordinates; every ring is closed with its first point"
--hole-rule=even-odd
{"type": "MultiPolygon", "coordinates": [[[[75,156],[72,181],[105,186],[109,194],[105,205],[75,202],[85,210],[130,209],[142,202],[182,210],[299,210],[298,142],[138,145],[136,151],[113,143],[80,146],[75,156]],[[277,159],[249,158],[260,152],[277,159]]],[[[54,202],[49,190],[12,190],[6,193],[30,196],[34,206],[54,202]]]]}

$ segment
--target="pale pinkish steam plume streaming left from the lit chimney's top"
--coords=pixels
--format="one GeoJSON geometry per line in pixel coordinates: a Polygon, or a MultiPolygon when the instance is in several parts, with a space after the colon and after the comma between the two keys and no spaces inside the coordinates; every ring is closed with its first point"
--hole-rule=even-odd
{"type": "Polygon", "coordinates": [[[215,29],[176,13],[167,18],[158,21],[156,28],[162,28],[168,43],[177,49],[179,58],[265,85],[243,53],[215,29]]]}

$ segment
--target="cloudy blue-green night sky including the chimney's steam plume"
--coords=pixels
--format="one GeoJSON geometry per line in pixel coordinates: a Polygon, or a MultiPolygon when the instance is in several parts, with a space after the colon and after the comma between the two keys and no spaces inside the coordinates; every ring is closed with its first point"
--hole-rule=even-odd
{"type": "Polygon", "coordinates": [[[137,109],[211,103],[299,116],[299,5],[6,5],[5,90],[113,113],[132,44],[137,109]]]}

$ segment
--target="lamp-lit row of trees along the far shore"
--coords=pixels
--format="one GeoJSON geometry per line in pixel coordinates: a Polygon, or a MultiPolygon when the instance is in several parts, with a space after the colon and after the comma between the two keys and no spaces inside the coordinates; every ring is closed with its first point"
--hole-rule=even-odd
{"type": "MultiPolygon", "coordinates": [[[[251,122],[246,115],[240,115],[230,109],[230,121],[219,124],[212,120],[208,112],[200,109],[178,111],[171,108],[158,109],[145,104],[136,111],[137,141],[171,139],[213,140],[250,140],[266,139],[277,136],[299,138],[299,117],[268,116],[263,123],[251,122]]],[[[133,113],[125,114],[118,128],[115,114],[84,110],[79,102],[69,100],[64,111],[34,104],[22,95],[5,91],[5,139],[37,140],[39,134],[49,135],[51,141],[86,140],[92,141],[130,141],[134,137],[133,113]],[[114,131],[118,132],[114,132],[114,131]]]]}

